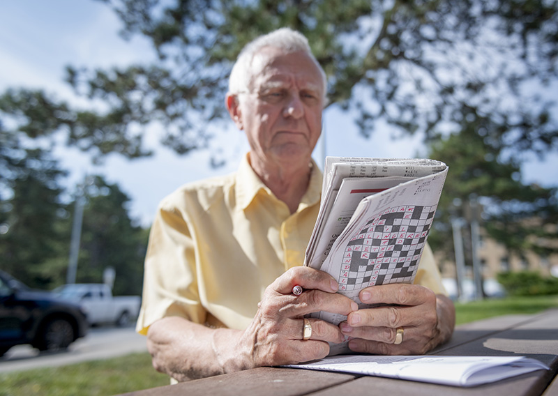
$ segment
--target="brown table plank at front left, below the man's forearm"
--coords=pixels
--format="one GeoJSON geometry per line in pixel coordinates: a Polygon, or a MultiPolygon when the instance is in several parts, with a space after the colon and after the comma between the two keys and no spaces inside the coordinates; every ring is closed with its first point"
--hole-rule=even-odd
{"type": "Polygon", "coordinates": [[[126,396],[301,396],[353,381],[353,374],[259,367],[254,370],[212,376],[176,385],[126,393],[126,396]]]}

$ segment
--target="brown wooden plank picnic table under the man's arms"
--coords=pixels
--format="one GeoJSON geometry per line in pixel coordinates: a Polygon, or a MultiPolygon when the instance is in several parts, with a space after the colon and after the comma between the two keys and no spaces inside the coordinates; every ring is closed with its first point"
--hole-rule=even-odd
{"type": "Polygon", "coordinates": [[[550,367],[472,388],[338,372],[259,367],[126,395],[478,395],[558,396],[558,308],[533,315],[508,315],[457,326],[440,356],[527,356],[550,367]]]}

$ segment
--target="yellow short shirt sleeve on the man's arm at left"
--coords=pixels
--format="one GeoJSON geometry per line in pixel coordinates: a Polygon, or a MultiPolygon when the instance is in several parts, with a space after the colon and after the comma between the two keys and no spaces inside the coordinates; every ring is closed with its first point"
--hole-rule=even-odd
{"type": "Polygon", "coordinates": [[[163,317],[206,321],[196,280],[195,243],[185,215],[162,204],[151,232],[144,265],[142,307],[136,331],[146,335],[163,317]]]}

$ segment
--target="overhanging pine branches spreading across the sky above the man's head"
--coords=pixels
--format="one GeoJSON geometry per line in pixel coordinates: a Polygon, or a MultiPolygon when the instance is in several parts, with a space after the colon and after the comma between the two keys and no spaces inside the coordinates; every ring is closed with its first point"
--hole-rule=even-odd
{"type": "Polygon", "coordinates": [[[308,36],[324,66],[331,104],[356,109],[364,135],[381,118],[393,133],[430,139],[440,125],[455,131],[476,109],[508,147],[541,155],[556,148],[552,102],[529,89],[556,82],[555,1],[101,1],[121,17],[124,36],[151,39],[159,61],[68,67],[76,92],[105,102],[105,112],[8,91],[0,110],[20,117],[30,136],[63,129],[68,144],[133,158],[149,154],[142,127],[158,120],[164,144],[178,153],[203,148],[225,114],[226,77],[241,47],[291,26],[308,36]]]}

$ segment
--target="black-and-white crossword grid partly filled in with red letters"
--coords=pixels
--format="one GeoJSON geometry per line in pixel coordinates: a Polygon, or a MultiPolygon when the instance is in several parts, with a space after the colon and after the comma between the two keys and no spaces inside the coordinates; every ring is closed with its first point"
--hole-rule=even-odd
{"type": "Polygon", "coordinates": [[[376,213],[356,231],[345,252],[340,290],[411,282],[436,206],[395,206],[376,213]]]}

